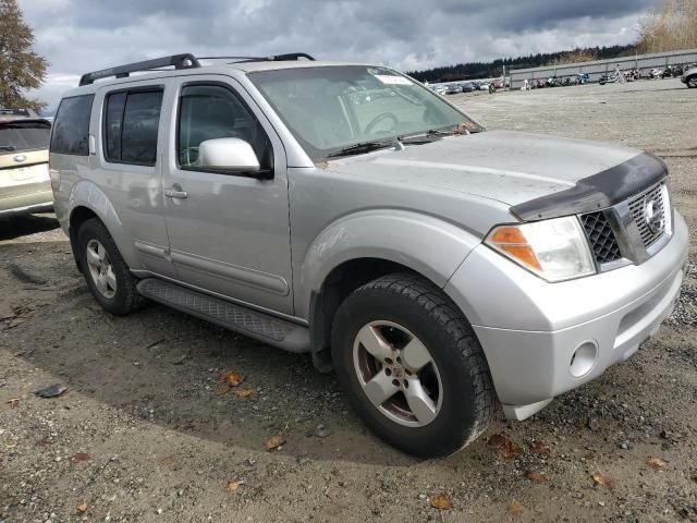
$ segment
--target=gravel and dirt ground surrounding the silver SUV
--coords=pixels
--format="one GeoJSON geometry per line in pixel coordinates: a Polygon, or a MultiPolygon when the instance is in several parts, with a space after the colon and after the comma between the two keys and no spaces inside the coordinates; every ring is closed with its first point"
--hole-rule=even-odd
{"type": "Polygon", "coordinates": [[[667,80],[450,99],[490,129],[665,159],[693,264],[658,337],[533,418],[499,410],[468,449],[419,461],[371,436],[308,356],[159,305],[112,317],[51,215],[2,221],[0,316],[14,318],[0,320],[0,523],[697,521],[697,89],[667,80]],[[223,393],[225,369],[252,394],[223,393]],[[34,394],[52,384],[69,388],[34,394]],[[430,507],[439,495],[453,507],[430,507]]]}

